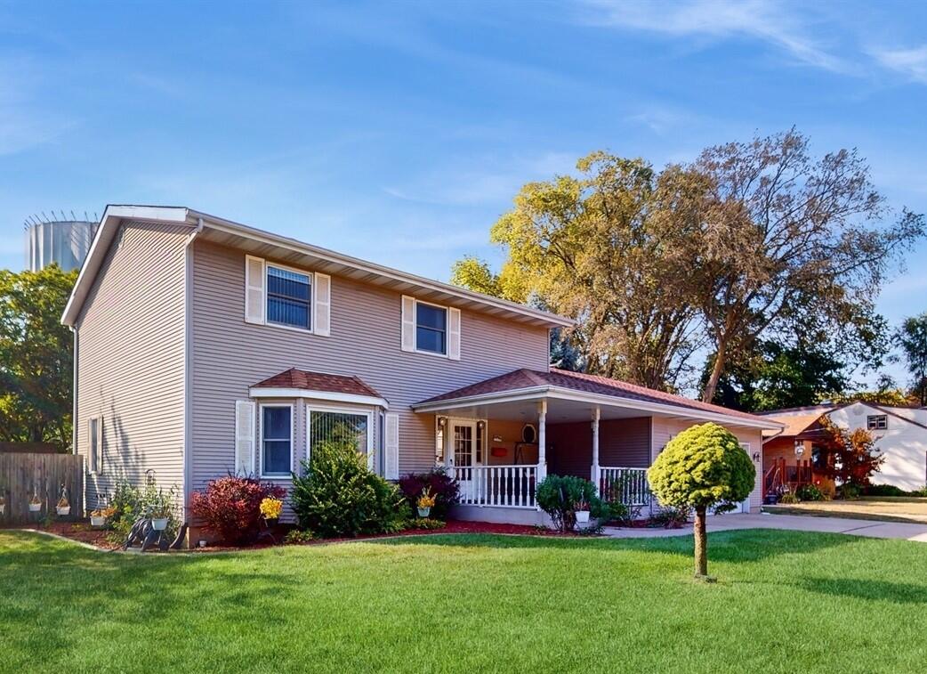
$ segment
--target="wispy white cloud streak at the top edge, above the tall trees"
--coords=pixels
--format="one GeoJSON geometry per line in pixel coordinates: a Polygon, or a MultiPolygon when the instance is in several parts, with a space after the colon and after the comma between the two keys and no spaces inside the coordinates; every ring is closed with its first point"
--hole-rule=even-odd
{"type": "Polygon", "coordinates": [[[785,51],[792,58],[828,71],[852,70],[806,29],[794,8],[776,0],[583,0],[584,19],[593,24],[671,36],[717,39],[747,37],[785,51]]]}

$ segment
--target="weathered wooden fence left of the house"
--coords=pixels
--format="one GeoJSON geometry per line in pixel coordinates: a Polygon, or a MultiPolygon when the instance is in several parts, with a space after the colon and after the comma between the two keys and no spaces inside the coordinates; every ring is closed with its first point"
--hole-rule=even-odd
{"type": "Polygon", "coordinates": [[[0,495],[5,500],[0,526],[53,520],[79,520],[83,517],[83,456],[80,454],[0,454],[0,495]],[[56,506],[61,488],[68,492],[70,513],[58,515],[56,506]],[[33,497],[41,501],[38,511],[30,511],[33,497]]]}

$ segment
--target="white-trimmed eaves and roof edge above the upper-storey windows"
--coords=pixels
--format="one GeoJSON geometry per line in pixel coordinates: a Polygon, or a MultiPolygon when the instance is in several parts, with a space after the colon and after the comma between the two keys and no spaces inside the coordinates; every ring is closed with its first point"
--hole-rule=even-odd
{"type": "Polygon", "coordinates": [[[190,227],[194,237],[240,249],[246,253],[273,259],[280,263],[301,266],[325,274],[354,279],[381,286],[395,292],[414,295],[418,299],[456,306],[547,328],[568,327],[570,318],[519,305],[498,297],[438,280],[425,279],[399,269],[377,265],[360,258],[336,253],[319,246],[290,239],[271,232],[248,227],[214,215],[200,213],[184,206],[109,205],[96,228],[90,252],[81,267],[71,291],[61,322],[74,326],[83,308],[96,275],[103,265],[109,245],[123,221],[143,221],[190,227]]]}

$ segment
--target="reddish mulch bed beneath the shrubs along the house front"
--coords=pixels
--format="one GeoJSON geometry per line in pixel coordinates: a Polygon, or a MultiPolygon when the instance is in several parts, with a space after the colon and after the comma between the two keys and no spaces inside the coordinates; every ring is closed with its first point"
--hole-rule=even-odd
{"type": "MultiPolygon", "coordinates": [[[[63,536],[65,538],[70,538],[72,540],[77,540],[82,543],[89,543],[94,545],[97,548],[102,550],[118,550],[121,548],[118,544],[113,544],[107,538],[108,531],[101,529],[92,529],[89,523],[86,522],[53,522],[50,525],[19,525],[11,526],[9,528],[16,529],[38,529],[40,531],[47,531],[50,534],[57,534],[57,536],[63,536]]],[[[274,544],[269,538],[262,538],[254,545],[250,545],[247,548],[231,546],[231,545],[221,545],[221,544],[212,544],[208,545],[205,548],[191,548],[189,551],[194,552],[224,552],[224,551],[240,551],[240,550],[260,550],[262,548],[273,548],[275,546],[283,545],[283,539],[286,536],[286,532],[290,527],[286,525],[279,526],[274,530],[274,536],[278,541],[274,544]]],[[[397,538],[403,536],[428,536],[434,534],[506,534],[506,535],[519,535],[519,536],[552,536],[552,537],[576,537],[578,534],[564,534],[559,531],[554,531],[552,529],[543,529],[537,526],[528,526],[528,525],[501,525],[493,524],[490,522],[464,522],[462,520],[448,520],[447,526],[442,529],[406,529],[405,531],[400,531],[395,534],[375,534],[372,536],[362,536],[358,538],[315,538],[306,543],[300,543],[298,545],[320,545],[324,543],[338,543],[349,540],[367,540],[371,538],[397,538]]],[[[158,552],[158,551],[152,551],[158,552]]]]}

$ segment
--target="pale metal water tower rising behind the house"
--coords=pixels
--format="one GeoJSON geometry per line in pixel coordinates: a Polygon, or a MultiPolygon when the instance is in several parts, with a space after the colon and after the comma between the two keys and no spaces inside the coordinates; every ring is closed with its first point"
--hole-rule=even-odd
{"type": "Polygon", "coordinates": [[[26,230],[26,266],[38,271],[57,263],[65,271],[83,265],[83,258],[90,251],[90,244],[96,232],[96,214],[92,220],[86,212],[83,220],[73,211],[62,211],[51,217],[44,213],[30,215],[23,225],[26,230]]]}

